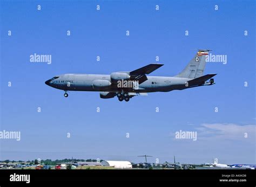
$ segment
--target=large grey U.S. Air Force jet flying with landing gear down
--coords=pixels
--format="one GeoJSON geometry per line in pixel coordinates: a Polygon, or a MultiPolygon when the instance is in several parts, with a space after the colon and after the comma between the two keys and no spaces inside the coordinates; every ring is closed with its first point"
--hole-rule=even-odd
{"type": "Polygon", "coordinates": [[[156,77],[148,74],[164,64],[149,64],[130,72],[106,74],[62,74],[45,81],[45,84],[62,89],[67,98],[68,91],[96,91],[100,98],[109,99],[117,96],[119,101],[129,101],[136,95],[150,92],[170,92],[187,88],[214,85],[216,74],[203,75],[206,56],[211,50],[197,50],[187,66],[174,77],[156,77]],[[207,81],[209,80],[210,81],[207,81]]]}

